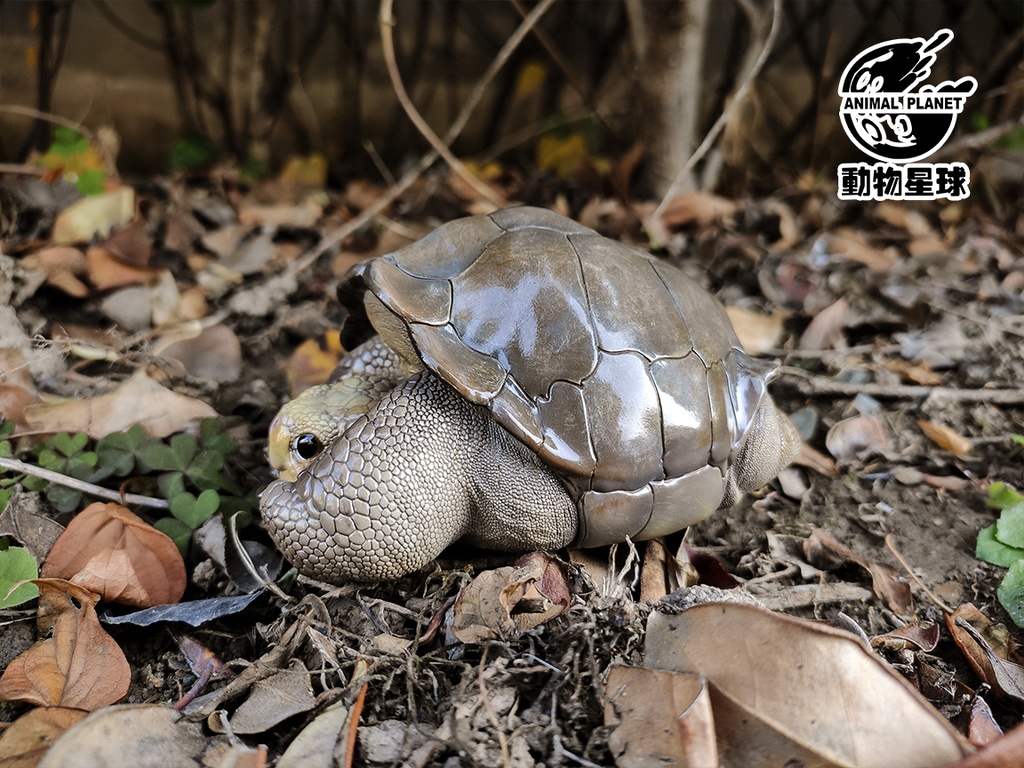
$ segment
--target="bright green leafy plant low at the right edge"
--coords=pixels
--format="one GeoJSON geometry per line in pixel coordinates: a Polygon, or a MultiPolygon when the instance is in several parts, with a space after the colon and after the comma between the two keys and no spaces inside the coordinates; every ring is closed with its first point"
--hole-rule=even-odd
{"type": "MultiPolygon", "coordinates": [[[[1013,435],[1013,440],[1024,445],[1022,435],[1013,435]]],[[[978,534],[975,556],[1008,568],[995,595],[1014,624],[1024,627],[1024,496],[993,482],[987,503],[1000,510],[999,519],[978,534]]]]}

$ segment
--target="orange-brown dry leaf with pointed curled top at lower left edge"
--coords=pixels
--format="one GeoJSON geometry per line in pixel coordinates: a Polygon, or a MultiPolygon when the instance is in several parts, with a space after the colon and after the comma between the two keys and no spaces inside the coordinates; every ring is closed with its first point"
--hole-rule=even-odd
{"type": "Polygon", "coordinates": [[[97,710],[128,692],[131,668],[99,626],[93,593],[59,579],[36,579],[38,641],[0,677],[0,699],[97,710]]]}

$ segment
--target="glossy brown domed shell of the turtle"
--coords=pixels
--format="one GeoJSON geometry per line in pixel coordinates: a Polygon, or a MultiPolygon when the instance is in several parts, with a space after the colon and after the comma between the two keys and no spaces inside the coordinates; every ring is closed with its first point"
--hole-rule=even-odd
{"type": "Polygon", "coordinates": [[[411,342],[562,477],[583,546],[677,530],[676,508],[694,521],[721,503],[767,370],[675,267],[515,208],[357,264],[342,295],[361,286],[400,321],[377,324],[385,341],[411,342]]]}

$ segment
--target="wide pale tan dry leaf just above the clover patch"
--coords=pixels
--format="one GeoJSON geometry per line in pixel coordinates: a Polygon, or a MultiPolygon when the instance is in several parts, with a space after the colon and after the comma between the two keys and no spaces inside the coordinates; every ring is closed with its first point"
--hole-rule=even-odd
{"type": "Polygon", "coordinates": [[[154,437],[180,432],[193,419],[217,412],[194,397],[172,392],[138,371],[121,386],[96,397],[29,406],[26,422],[41,432],[87,432],[100,438],[141,424],[154,437]]]}

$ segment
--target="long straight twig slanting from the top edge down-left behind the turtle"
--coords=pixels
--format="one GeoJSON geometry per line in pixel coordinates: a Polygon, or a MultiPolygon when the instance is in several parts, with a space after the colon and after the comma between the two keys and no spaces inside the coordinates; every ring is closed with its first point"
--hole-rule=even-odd
{"type": "MultiPolygon", "coordinates": [[[[498,51],[494,60],[490,62],[490,67],[487,71],[483,73],[480,79],[473,86],[473,90],[470,91],[469,97],[466,99],[465,105],[462,108],[462,112],[459,117],[449,128],[447,133],[444,134],[444,143],[451,145],[459,134],[462,133],[462,129],[466,127],[466,123],[469,122],[470,116],[473,111],[480,103],[483,98],[483,94],[486,92],[487,86],[490,81],[495,79],[495,76],[501,71],[501,69],[508,62],[509,57],[512,55],[519,44],[523,41],[523,38],[529,34],[530,29],[536,25],[541,16],[552,6],[554,0],[543,0],[539,3],[530,14],[523,19],[522,24],[516,29],[512,36],[505,42],[502,49],[498,51]]],[[[323,254],[329,251],[334,246],[339,243],[343,243],[346,238],[348,238],[352,232],[356,231],[359,227],[364,226],[368,222],[372,221],[381,211],[387,208],[391,203],[398,199],[402,193],[404,193],[413,182],[418,179],[424,171],[426,171],[434,161],[437,160],[439,154],[436,150],[431,150],[422,158],[420,161],[398,180],[394,186],[390,187],[386,193],[381,195],[374,204],[369,208],[366,208],[358,216],[356,216],[351,221],[342,224],[337,229],[321,239],[319,243],[313,247],[312,250],[303,254],[303,256],[295,261],[291,262],[287,268],[290,274],[298,274],[303,269],[311,265],[316,259],[318,259],[323,254]]]]}

